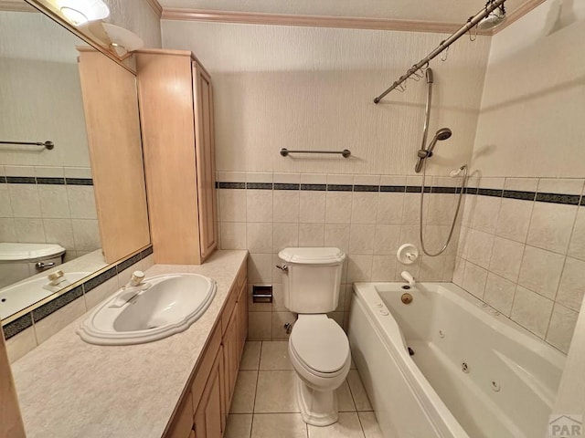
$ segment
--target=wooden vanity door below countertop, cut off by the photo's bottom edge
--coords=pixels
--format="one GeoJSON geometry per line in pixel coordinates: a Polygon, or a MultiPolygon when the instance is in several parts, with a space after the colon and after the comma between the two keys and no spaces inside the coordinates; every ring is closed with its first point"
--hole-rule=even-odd
{"type": "Polygon", "coordinates": [[[222,354],[222,349],[219,348],[201,401],[199,401],[195,412],[195,434],[197,438],[221,438],[223,433],[220,384],[222,354]]]}

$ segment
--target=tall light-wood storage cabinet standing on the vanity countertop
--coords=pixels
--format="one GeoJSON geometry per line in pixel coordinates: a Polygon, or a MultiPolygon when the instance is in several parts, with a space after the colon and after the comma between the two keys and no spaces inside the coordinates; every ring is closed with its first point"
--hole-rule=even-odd
{"type": "Polygon", "coordinates": [[[213,91],[191,52],[136,54],[154,263],[201,264],[217,247],[213,91]]]}

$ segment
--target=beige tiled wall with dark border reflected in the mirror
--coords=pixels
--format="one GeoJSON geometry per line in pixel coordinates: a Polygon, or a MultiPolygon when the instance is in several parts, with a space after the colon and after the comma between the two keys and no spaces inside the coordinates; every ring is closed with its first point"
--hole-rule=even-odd
{"type": "Polygon", "coordinates": [[[0,166],[0,242],[59,244],[65,261],[100,248],[90,168],[0,166]]]}

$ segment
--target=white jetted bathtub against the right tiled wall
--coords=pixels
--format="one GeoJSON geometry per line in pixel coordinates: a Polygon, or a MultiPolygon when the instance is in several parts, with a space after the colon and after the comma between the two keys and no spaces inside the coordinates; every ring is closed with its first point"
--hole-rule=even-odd
{"type": "Polygon", "coordinates": [[[402,287],[356,283],[349,317],[384,438],[545,436],[565,356],[452,283],[402,287]]]}

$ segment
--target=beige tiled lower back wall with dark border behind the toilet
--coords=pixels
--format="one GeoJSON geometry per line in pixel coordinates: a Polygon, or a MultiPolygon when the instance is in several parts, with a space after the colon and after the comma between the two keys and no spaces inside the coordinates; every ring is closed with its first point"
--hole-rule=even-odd
{"type": "MultiPolygon", "coordinates": [[[[397,262],[399,245],[420,247],[420,177],[315,173],[218,172],[222,249],[250,251],[248,278],[273,287],[271,304],[250,302],[249,339],[286,339],[294,315],[282,304],[282,273],[275,266],[287,246],[336,246],[347,255],[339,306],[330,316],[346,327],[351,284],[400,280],[406,269],[424,281],[451,281],[458,230],[444,255],[397,262]]],[[[438,249],[449,233],[458,180],[429,177],[425,242],[438,249]]]]}

